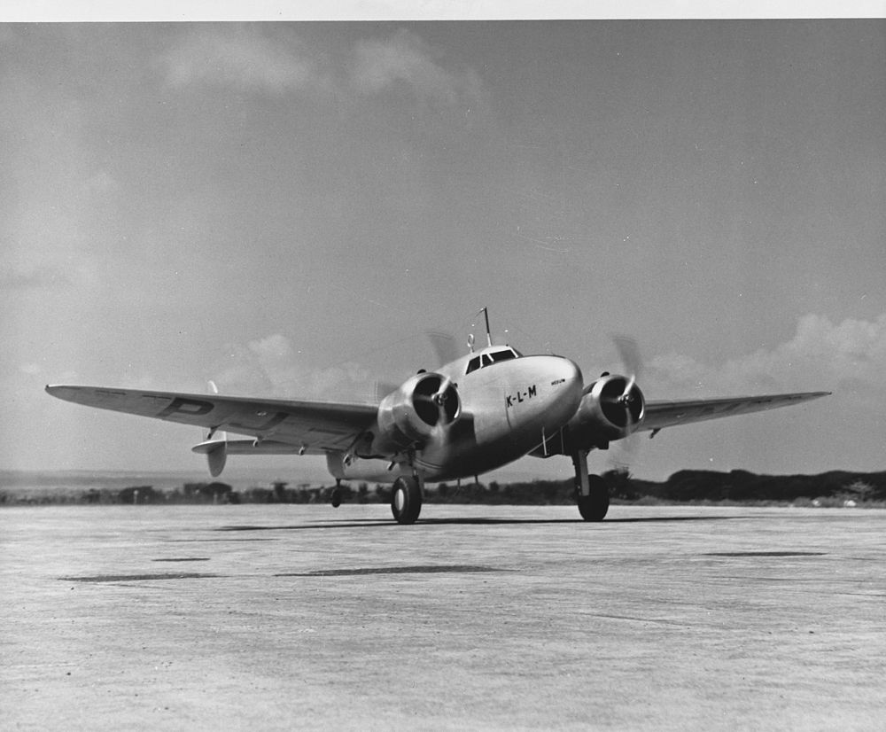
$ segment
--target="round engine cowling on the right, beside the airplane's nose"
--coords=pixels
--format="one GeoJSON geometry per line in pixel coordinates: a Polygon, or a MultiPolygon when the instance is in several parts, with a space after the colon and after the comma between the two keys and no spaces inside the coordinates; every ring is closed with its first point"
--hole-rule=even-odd
{"type": "Polygon", "coordinates": [[[568,424],[571,448],[607,448],[635,432],[645,416],[646,400],[632,378],[605,376],[590,386],[568,424]]]}

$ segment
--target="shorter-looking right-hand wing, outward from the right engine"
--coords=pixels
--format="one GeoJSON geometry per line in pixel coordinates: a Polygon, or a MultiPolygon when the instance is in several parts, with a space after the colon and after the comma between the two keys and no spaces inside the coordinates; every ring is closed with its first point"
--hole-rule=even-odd
{"type": "Polygon", "coordinates": [[[646,417],[640,431],[660,430],[677,424],[702,422],[705,419],[734,417],[766,409],[778,409],[827,396],[830,392],[771,394],[769,396],[737,396],[726,399],[687,399],[679,401],[647,401],[646,417]]]}

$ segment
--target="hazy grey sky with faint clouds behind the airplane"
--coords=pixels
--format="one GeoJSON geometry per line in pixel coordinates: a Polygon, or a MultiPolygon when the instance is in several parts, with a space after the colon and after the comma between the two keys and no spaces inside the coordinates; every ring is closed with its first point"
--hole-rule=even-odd
{"type": "Polygon", "coordinates": [[[0,24],[0,468],[202,469],[47,383],[367,400],[487,306],[648,399],[833,392],[635,475],[886,470],[884,68],[883,19],[0,24]]]}

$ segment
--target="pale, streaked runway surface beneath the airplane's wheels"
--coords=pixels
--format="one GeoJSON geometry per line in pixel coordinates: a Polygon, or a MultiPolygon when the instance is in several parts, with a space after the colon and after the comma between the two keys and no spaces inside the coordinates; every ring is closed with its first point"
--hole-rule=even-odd
{"type": "Polygon", "coordinates": [[[883,510],[0,510],[3,729],[882,729],[883,510]]]}

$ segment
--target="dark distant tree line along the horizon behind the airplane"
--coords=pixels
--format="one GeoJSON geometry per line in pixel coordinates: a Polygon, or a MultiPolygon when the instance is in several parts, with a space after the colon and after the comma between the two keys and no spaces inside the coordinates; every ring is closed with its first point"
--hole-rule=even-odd
{"type": "MultiPolygon", "coordinates": [[[[856,473],[831,471],[820,475],[770,476],[748,471],[679,471],[663,483],[634,479],[627,471],[609,471],[603,478],[613,503],[793,503],[800,505],[886,504],[886,471],[856,473]]],[[[152,486],[122,489],[89,488],[85,491],[17,493],[0,490],[0,505],[22,504],[219,504],[219,503],[323,503],[333,487],[291,487],[276,481],[271,487],[237,491],[227,483],[185,483],[172,491],[152,486]]],[[[344,484],[343,502],[388,503],[391,487],[367,483],[344,484]]],[[[427,487],[428,503],[484,503],[509,505],[567,505],[574,502],[574,481],[532,480],[488,484],[439,483],[427,487]]]]}

